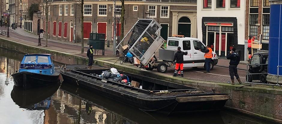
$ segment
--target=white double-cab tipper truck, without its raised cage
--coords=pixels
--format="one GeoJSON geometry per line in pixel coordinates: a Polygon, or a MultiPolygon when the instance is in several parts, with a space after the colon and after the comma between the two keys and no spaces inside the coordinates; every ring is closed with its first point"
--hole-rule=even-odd
{"type": "MultiPolygon", "coordinates": [[[[158,69],[158,72],[165,73],[167,66],[172,65],[174,54],[177,52],[177,47],[181,47],[181,51],[188,52],[183,56],[184,64],[183,67],[203,67],[205,64],[205,57],[203,52],[199,51],[206,50],[206,46],[196,38],[176,36],[167,38],[167,48],[159,49],[159,59],[152,65],[152,67],[145,67],[147,70],[158,69]]],[[[218,62],[217,54],[212,52],[211,69],[218,62]]],[[[150,66],[150,65],[149,65],[150,66]]]]}

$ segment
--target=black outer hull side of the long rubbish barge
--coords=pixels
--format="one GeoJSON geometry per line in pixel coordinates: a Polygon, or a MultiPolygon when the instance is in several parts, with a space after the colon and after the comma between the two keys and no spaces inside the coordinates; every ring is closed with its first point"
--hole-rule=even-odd
{"type": "Polygon", "coordinates": [[[229,99],[228,94],[189,94],[188,96],[159,96],[150,97],[134,95],[115,88],[101,85],[97,80],[84,79],[83,76],[72,75],[61,70],[64,81],[82,86],[105,97],[117,100],[143,111],[171,114],[178,112],[213,111],[220,110],[229,99]],[[213,97],[217,95],[217,97],[213,97]],[[183,97],[201,97],[202,100],[187,100],[183,97]],[[210,99],[213,98],[213,99],[210,99]]]}

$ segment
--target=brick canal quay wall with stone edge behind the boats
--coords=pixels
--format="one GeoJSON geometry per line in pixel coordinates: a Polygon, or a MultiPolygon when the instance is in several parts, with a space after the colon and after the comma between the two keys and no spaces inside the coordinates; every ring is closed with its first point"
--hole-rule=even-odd
{"type": "MultiPolygon", "coordinates": [[[[66,64],[85,64],[88,58],[81,54],[66,52],[68,50],[58,49],[53,47],[38,47],[34,44],[26,44],[17,39],[0,38],[0,47],[10,50],[17,50],[22,53],[50,53],[55,61],[66,64]]],[[[217,92],[228,93],[230,98],[226,102],[226,108],[234,109],[245,114],[250,114],[275,122],[282,123],[282,89],[277,87],[266,86],[244,86],[231,85],[226,82],[199,81],[193,79],[185,79],[173,77],[167,74],[146,71],[140,68],[121,65],[115,63],[116,58],[110,56],[96,57],[95,63],[104,67],[114,67],[118,70],[127,71],[130,73],[154,77],[182,85],[201,88],[206,91],[211,91],[215,88],[217,92]]],[[[217,78],[216,76],[214,78],[217,78]]],[[[248,84],[245,84],[248,85],[248,84]]]]}

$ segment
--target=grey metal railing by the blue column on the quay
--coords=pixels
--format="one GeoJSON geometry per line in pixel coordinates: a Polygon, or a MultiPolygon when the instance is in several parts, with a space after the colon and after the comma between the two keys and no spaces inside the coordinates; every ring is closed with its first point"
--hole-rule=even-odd
{"type": "Polygon", "coordinates": [[[258,85],[270,85],[270,86],[272,86],[272,88],[274,88],[274,86],[282,86],[282,85],[280,85],[280,84],[278,84],[278,67],[282,67],[282,66],[277,66],[277,84],[264,84],[264,83],[252,83],[252,82],[249,82],[249,75],[256,75],[256,74],[268,74],[268,73],[252,73],[252,74],[250,74],[249,73],[249,66],[252,66],[252,65],[259,65],[259,66],[261,66],[261,65],[268,65],[268,64],[247,64],[247,77],[246,77],[246,80],[247,80],[247,82],[246,83],[248,83],[248,84],[258,84],[258,85]]]}

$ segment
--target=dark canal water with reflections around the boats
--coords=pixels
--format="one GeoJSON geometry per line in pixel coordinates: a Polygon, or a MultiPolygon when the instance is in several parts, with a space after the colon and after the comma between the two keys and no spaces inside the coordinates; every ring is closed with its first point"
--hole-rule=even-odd
{"type": "Polygon", "coordinates": [[[230,110],[170,116],[146,113],[67,82],[23,91],[13,86],[11,76],[22,57],[0,49],[0,124],[273,124],[230,110]]]}

